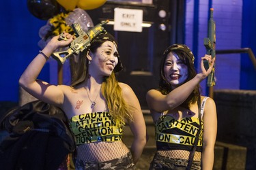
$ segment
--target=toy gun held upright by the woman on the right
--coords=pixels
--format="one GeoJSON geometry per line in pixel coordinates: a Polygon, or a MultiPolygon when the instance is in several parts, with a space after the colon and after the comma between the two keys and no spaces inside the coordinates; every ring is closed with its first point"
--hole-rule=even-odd
{"type": "MultiPolygon", "coordinates": [[[[207,50],[207,54],[211,55],[212,58],[216,56],[215,46],[216,46],[216,34],[215,34],[215,21],[213,20],[213,8],[210,9],[210,19],[208,21],[208,37],[203,39],[203,45],[207,50]]],[[[210,63],[207,60],[203,61],[203,65],[206,70],[209,69],[210,63]]],[[[215,71],[215,63],[211,73],[208,75],[207,86],[214,86],[214,71],[215,71]]]]}

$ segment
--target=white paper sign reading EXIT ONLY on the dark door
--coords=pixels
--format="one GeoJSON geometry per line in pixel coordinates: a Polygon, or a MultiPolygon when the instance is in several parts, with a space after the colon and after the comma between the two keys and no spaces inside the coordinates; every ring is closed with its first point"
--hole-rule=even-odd
{"type": "Polygon", "coordinates": [[[115,8],[115,31],[142,32],[143,10],[115,8]]]}

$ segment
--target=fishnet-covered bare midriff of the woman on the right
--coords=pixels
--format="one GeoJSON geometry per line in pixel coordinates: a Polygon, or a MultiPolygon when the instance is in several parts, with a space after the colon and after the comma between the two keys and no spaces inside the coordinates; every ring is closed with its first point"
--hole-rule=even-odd
{"type": "MultiPolygon", "coordinates": [[[[189,153],[186,150],[158,150],[158,154],[169,158],[188,159],[189,153]]],[[[201,160],[201,152],[195,152],[194,160],[201,160]]]]}

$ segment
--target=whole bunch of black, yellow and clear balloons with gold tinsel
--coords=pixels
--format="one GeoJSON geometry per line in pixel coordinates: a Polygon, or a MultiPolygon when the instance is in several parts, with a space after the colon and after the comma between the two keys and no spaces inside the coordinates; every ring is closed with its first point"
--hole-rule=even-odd
{"type": "Polygon", "coordinates": [[[48,41],[63,31],[74,35],[73,23],[79,23],[83,31],[94,27],[91,18],[85,10],[94,10],[103,5],[106,0],[27,0],[29,12],[40,20],[48,20],[41,27],[38,42],[44,48],[48,41]]]}

